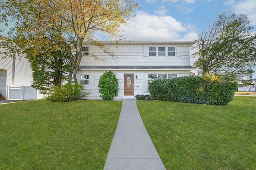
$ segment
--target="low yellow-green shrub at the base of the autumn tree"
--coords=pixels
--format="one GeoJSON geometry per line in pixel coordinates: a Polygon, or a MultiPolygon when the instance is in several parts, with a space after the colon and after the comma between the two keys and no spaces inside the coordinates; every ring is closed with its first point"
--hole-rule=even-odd
{"type": "Polygon", "coordinates": [[[48,97],[48,100],[52,102],[71,102],[80,100],[82,97],[86,97],[87,92],[84,92],[84,86],[80,84],[67,83],[62,86],[56,86],[52,94],[48,97]]]}

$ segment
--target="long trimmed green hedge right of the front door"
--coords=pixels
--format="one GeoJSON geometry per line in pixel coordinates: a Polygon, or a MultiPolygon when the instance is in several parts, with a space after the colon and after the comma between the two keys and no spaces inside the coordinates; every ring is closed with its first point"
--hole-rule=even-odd
{"type": "Polygon", "coordinates": [[[233,99],[236,81],[228,77],[191,76],[155,80],[149,85],[154,100],[226,105],[233,99]]]}

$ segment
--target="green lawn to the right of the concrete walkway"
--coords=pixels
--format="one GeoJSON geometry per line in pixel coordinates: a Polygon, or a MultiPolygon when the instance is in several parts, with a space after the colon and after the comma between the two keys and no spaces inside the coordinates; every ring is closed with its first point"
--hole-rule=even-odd
{"type": "Polygon", "coordinates": [[[137,101],[166,169],[255,170],[256,98],[226,106],[137,101]]]}

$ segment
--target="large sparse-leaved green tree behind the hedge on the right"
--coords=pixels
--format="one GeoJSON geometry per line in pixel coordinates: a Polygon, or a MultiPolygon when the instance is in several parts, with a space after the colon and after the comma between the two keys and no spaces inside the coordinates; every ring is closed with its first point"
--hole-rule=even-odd
{"type": "Polygon", "coordinates": [[[246,15],[218,15],[218,20],[196,39],[193,48],[197,52],[193,57],[198,60],[194,68],[199,68],[202,74],[251,77],[252,67],[256,65],[256,34],[248,25],[246,15]]]}

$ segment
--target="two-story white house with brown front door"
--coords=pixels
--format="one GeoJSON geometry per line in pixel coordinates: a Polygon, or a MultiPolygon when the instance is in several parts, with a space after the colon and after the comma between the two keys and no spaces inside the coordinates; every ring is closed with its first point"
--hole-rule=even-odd
{"type": "Polygon", "coordinates": [[[196,41],[121,41],[118,45],[111,41],[101,42],[117,56],[113,60],[96,45],[83,42],[84,56],[77,78],[90,91],[87,99],[102,99],[98,82],[108,70],[115,72],[119,80],[120,89],[114,98],[119,100],[134,98],[136,94],[150,94],[148,85],[152,76],[189,76],[193,69],[190,66],[190,47],[196,41]],[[106,62],[95,60],[93,55],[106,62]]]}

